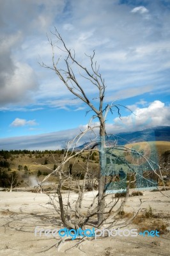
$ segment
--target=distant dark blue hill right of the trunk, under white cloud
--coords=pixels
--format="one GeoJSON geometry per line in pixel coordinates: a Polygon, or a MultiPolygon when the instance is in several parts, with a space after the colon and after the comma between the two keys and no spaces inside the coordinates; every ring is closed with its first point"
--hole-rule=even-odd
{"type": "MultiPolygon", "coordinates": [[[[157,126],[140,131],[121,132],[106,138],[108,144],[114,144],[115,140],[117,140],[117,145],[126,145],[127,143],[131,144],[142,141],[170,141],[170,126],[157,126]]],[[[81,150],[83,147],[86,147],[86,145],[88,145],[88,143],[77,147],[76,150],[81,150]]]]}

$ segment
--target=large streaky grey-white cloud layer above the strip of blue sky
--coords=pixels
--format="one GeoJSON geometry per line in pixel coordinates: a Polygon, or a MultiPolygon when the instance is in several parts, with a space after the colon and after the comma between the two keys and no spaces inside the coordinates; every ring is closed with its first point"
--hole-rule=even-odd
{"type": "MultiPolygon", "coordinates": [[[[55,74],[38,65],[41,60],[52,63],[45,34],[56,42],[50,34],[54,26],[88,67],[84,52],[95,49],[109,95],[125,99],[162,88],[169,92],[169,1],[1,1],[0,15],[2,108],[40,103],[68,108],[72,95],[55,74]]],[[[91,84],[80,81],[92,99],[91,84]]],[[[81,104],[76,102],[77,108],[81,104]]]]}

